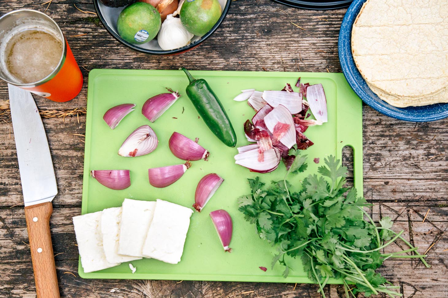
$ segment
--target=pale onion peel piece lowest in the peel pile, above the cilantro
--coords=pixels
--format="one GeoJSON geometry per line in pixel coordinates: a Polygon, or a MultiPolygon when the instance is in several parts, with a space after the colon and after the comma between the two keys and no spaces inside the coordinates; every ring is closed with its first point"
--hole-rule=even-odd
{"type": "Polygon", "coordinates": [[[258,148],[235,155],[235,163],[254,172],[272,170],[280,162],[280,150],[271,148],[263,152],[263,162],[258,161],[258,148]]]}

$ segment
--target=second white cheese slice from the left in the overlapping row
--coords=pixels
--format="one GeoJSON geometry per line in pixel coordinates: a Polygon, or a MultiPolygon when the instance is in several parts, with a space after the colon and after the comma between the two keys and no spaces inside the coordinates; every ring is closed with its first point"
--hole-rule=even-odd
{"type": "Polygon", "coordinates": [[[103,210],[101,215],[101,232],[103,233],[103,248],[109,263],[124,263],[140,260],[141,257],[120,255],[118,253],[118,237],[120,235],[121,207],[103,210]]]}

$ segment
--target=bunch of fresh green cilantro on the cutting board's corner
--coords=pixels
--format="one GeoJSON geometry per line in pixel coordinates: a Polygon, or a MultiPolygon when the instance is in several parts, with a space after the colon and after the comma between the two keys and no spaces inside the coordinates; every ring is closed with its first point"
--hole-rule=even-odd
{"type": "Polygon", "coordinates": [[[272,182],[264,187],[259,177],[248,179],[252,192],[238,198],[239,210],[246,221],[257,227],[260,238],[276,245],[279,253],[272,260],[272,267],[278,262],[285,266],[287,277],[290,267],[285,260],[288,255],[302,260],[308,277],[319,284],[319,292],[325,298],[323,287],[330,278],[342,279],[345,294],[364,293],[366,296],[383,292],[390,297],[401,296],[375,270],[388,258],[420,258],[416,247],[391,230],[393,222],[383,217],[379,224],[364,210],[370,207],[356,189],[343,187],[347,168],[333,156],[325,159],[326,166],[320,166],[320,175],[309,175],[302,182],[302,189],[292,192],[286,180],[290,173],[304,172],[306,156],[296,156],[284,180],[272,182]],[[344,194],[346,193],[346,196],[344,194]],[[397,239],[409,249],[382,254],[381,251],[397,239]],[[415,255],[402,255],[414,252],[415,255]],[[350,289],[349,284],[356,285],[350,289]]]}

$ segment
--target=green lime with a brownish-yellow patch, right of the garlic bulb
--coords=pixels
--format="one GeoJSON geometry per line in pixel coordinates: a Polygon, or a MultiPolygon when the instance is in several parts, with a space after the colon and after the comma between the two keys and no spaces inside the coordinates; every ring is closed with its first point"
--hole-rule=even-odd
{"type": "Polygon", "coordinates": [[[185,0],[180,15],[186,30],[202,36],[219,20],[221,5],[218,0],[185,0]]]}

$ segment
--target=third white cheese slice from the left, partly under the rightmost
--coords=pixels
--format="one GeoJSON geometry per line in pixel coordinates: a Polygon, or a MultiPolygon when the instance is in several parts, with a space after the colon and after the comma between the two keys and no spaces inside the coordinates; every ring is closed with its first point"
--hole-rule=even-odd
{"type": "Polygon", "coordinates": [[[125,199],[120,224],[118,253],[141,257],[143,243],[154,213],[154,201],[125,199]]]}

